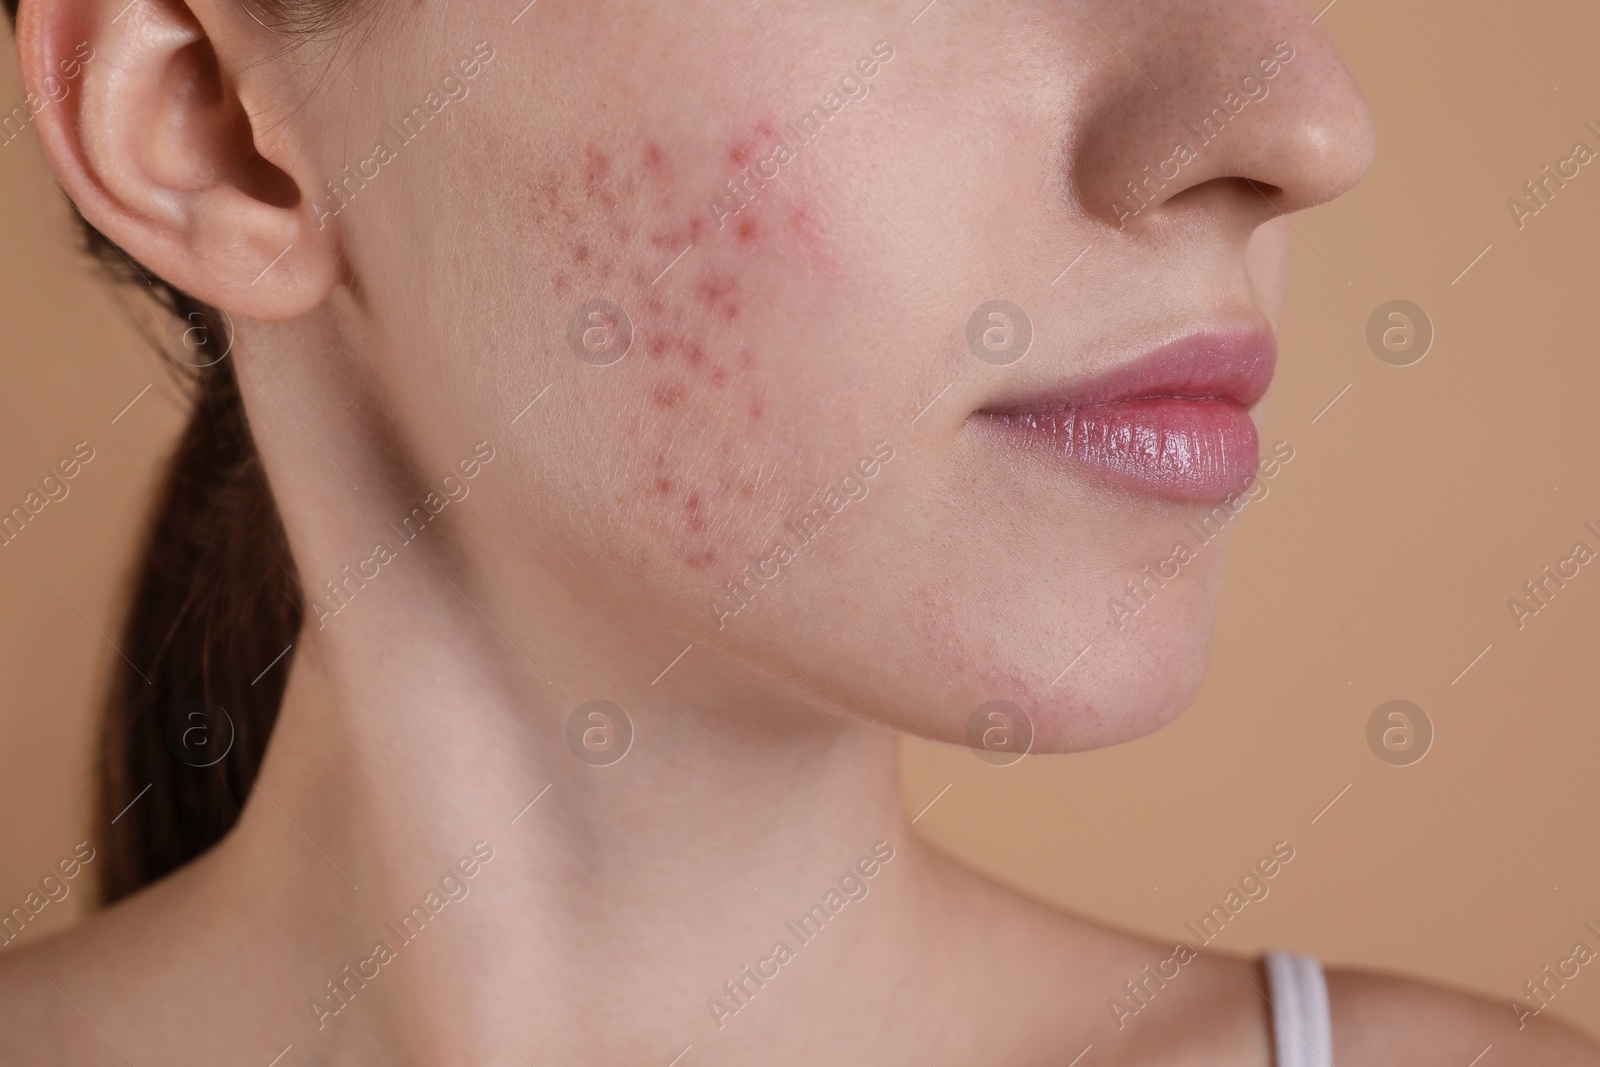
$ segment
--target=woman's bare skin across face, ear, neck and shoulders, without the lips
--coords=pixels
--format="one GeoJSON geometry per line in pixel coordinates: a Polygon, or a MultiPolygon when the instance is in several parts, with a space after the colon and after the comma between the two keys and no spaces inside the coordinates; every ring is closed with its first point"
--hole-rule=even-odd
{"type": "MultiPolygon", "coordinates": [[[[896,760],[899,733],[960,742],[990,699],[1070,752],[1194,694],[1221,552],[1136,625],[1102,605],[1208,506],[1019,458],[970,416],[1277,322],[1280,213],[1373,155],[1307,8],[941,3],[912,24],[869,0],[419,0],[296,45],[232,0],[122,6],[24,0],[29,83],[94,46],[37,123],[50,162],[102,232],[234,317],[307,600],[376,541],[394,558],[312,611],[235,832],[0,960],[0,1059],[1269,1062],[1251,960],[1205,953],[1117,1030],[1106,1000],[1171,947],[922,845],[896,760]],[[1118,229],[1123,182],[1280,40],[1270,96],[1118,229]],[[467,96],[334,214],[326,182],[480,42],[467,96]],[[867,96],[720,218],[717,190],[877,42],[867,96]],[[963,342],[995,294],[1035,326],[1008,368],[963,342]],[[592,296],[632,320],[611,366],[566,342],[592,296]],[[394,547],[478,442],[469,496],[394,547]],[[878,442],[870,493],[718,614],[774,523],[878,442]],[[635,731],[603,771],[565,742],[595,697],[635,731]],[[493,859],[469,896],[318,1029],[307,1001],[474,841],[493,859]],[[848,933],[718,1029],[707,998],[875,841],[894,859],[848,933]]],[[[1600,1062],[1547,1016],[1518,1032],[1464,993],[1330,984],[1341,1067],[1488,1043],[1600,1062]]]]}

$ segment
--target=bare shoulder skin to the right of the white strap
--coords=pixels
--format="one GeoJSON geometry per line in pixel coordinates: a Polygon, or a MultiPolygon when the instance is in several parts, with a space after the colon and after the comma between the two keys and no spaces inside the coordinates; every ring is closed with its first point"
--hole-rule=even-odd
{"type": "Polygon", "coordinates": [[[1354,968],[1328,969],[1338,1067],[1600,1067],[1600,1045],[1550,1013],[1354,968]]]}

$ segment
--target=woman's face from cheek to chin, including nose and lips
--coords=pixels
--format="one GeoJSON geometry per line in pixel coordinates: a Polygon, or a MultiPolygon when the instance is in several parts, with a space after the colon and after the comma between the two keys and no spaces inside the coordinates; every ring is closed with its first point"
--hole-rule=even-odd
{"type": "Polygon", "coordinates": [[[381,18],[288,118],[419,470],[498,451],[502,561],[693,643],[675,701],[1008,701],[1035,750],[1181,710],[1278,214],[1373,152],[1304,3],[525,3],[381,18]]]}

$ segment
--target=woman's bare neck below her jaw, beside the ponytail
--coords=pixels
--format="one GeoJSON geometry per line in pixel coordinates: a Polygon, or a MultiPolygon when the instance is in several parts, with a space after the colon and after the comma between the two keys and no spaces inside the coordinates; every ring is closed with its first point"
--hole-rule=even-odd
{"type": "Polygon", "coordinates": [[[226,849],[242,891],[302,920],[286,1003],[310,1048],[440,1062],[488,1019],[523,1054],[518,1033],[546,1054],[566,1035],[605,1062],[573,1019],[626,1005],[602,1046],[667,1062],[792,1032],[810,985],[784,950],[856,976],[915,958],[938,864],[906,832],[893,733],[773,707],[704,653],[653,685],[645,657],[517,613],[550,598],[410,563],[307,621],[226,849]],[[570,728],[595,696],[626,725],[570,728]]]}

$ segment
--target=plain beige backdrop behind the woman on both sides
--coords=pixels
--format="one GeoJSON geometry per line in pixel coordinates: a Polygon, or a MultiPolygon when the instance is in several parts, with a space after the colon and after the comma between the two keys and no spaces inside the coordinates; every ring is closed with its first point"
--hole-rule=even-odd
{"type": "MultiPolygon", "coordinates": [[[[1205,691],[1146,741],[1008,769],[910,744],[906,798],[918,813],[939,797],[918,830],[998,877],[1174,937],[1288,840],[1296,859],[1214,947],[1509,998],[1578,939],[1600,949],[1582,929],[1600,925],[1600,563],[1520,632],[1506,606],[1576,539],[1600,549],[1582,531],[1600,526],[1600,162],[1520,232],[1506,205],[1576,139],[1600,149],[1584,130],[1600,126],[1600,8],[1338,0],[1320,26],[1373,101],[1381,152],[1350,197],[1296,219],[1267,440],[1298,456],[1240,518],[1205,691]],[[1410,368],[1365,341],[1394,298],[1437,330],[1410,368]],[[1437,729],[1414,766],[1366,747],[1392,697],[1437,729]]],[[[74,254],[32,133],[0,147],[0,502],[74,442],[98,453],[0,549],[10,907],[86,833],[93,694],[115,659],[96,627],[114,630],[179,408],[74,254]]],[[[37,928],[70,917],[51,905],[37,928]]],[[[1554,1011],[1600,1032],[1600,965],[1554,1011]]]]}

